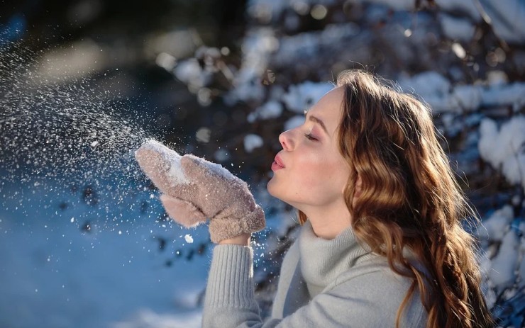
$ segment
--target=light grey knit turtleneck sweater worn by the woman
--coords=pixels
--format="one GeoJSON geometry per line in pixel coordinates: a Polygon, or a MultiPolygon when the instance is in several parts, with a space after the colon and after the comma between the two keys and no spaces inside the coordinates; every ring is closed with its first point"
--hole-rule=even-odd
{"type": "MultiPolygon", "coordinates": [[[[384,257],[361,247],[351,228],[326,240],[306,222],[284,256],[266,321],[254,297],[253,250],[215,247],[203,327],[394,327],[410,283],[384,257]]],[[[427,313],[417,290],[403,313],[400,327],[425,327],[427,313]]]]}

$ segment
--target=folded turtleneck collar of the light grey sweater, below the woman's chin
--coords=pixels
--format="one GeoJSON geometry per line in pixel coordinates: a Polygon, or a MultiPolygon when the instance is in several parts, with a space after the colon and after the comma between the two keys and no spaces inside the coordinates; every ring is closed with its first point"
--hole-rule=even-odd
{"type": "Polygon", "coordinates": [[[309,220],[299,234],[299,249],[302,276],[312,297],[354,266],[361,256],[370,253],[355,239],[352,227],[334,239],[323,239],[316,236],[309,220]]]}

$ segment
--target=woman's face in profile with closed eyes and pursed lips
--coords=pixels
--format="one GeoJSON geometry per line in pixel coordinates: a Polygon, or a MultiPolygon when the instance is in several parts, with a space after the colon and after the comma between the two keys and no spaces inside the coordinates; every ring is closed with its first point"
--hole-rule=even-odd
{"type": "Polygon", "coordinates": [[[306,113],[303,125],[282,132],[268,192],[299,210],[344,202],[350,168],[338,147],[344,91],[336,88],[306,113]]]}

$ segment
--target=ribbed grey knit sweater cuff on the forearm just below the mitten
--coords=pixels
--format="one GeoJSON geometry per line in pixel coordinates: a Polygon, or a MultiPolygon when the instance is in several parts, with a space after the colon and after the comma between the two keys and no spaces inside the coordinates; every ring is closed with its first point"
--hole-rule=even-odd
{"type": "Polygon", "coordinates": [[[206,286],[206,305],[252,307],[253,250],[241,245],[217,245],[206,286]]]}

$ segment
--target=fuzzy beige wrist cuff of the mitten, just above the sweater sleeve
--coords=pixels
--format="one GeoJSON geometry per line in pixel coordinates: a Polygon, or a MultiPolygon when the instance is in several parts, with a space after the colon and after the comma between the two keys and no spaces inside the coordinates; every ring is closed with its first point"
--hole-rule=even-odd
{"type": "Polygon", "coordinates": [[[211,242],[217,244],[224,239],[237,237],[244,233],[257,232],[264,229],[265,225],[265,213],[259,205],[256,205],[253,211],[240,218],[233,215],[214,217],[209,224],[211,242]]]}

